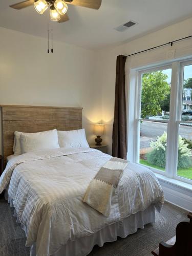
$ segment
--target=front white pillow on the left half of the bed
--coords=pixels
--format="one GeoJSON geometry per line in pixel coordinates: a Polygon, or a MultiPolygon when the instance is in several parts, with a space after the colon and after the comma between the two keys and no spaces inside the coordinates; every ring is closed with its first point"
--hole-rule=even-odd
{"type": "Polygon", "coordinates": [[[22,154],[37,150],[52,150],[59,148],[57,130],[39,133],[20,134],[20,147],[22,154]]]}

